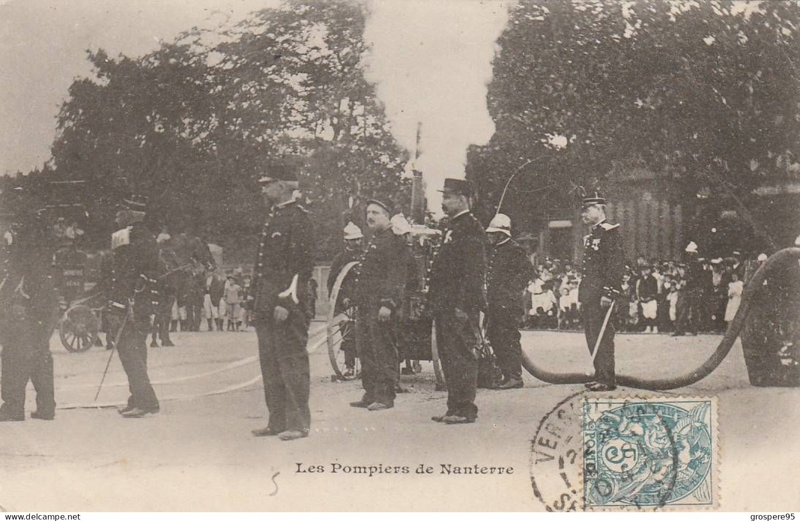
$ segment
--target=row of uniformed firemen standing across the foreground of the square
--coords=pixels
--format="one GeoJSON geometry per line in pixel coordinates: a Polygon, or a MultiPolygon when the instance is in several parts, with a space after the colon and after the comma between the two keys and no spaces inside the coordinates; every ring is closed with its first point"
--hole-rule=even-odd
{"type": "MultiPolygon", "coordinates": [[[[306,352],[312,317],[310,279],[314,244],[310,217],[295,197],[297,178],[291,171],[267,173],[259,182],[269,208],[258,241],[258,255],[248,296],[258,336],[269,422],[254,435],[277,435],[291,440],[305,437],[310,428],[310,376],[306,352]]],[[[478,417],[475,389],[476,350],[481,343],[479,316],[486,316],[486,333],[502,369],[498,388],[522,386],[516,297],[530,278],[524,250],[512,239],[510,220],[498,214],[484,230],[470,213],[470,181],[446,179],[442,209],[447,228],[426,277],[426,308],[432,313],[438,351],[448,392],[447,408],[432,420],[442,424],[469,424],[478,417]],[[488,237],[488,240],[487,240],[488,237]]],[[[30,202],[30,201],[29,201],[30,202]]],[[[595,348],[594,391],[615,388],[614,324],[604,321],[608,304],[622,282],[622,241],[618,225],[605,219],[606,200],[597,193],[582,201],[582,216],[590,225],[584,242],[583,276],[579,300],[590,352],[595,348]],[[599,340],[598,340],[599,339],[599,340]]],[[[22,201],[11,212],[22,232],[7,248],[0,288],[0,343],[2,343],[2,408],[0,420],[24,420],[25,387],[34,381],[37,410],[34,418],[54,418],[53,363],[50,334],[58,313],[57,284],[52,272],[47,227],[35,206],[22,201]]],[[[108,333],[130,384],[130,398],[119,410],[125,418],[141,418],[159,411],[147,375],[146,335],[158,305],[160,264],[154,233],[143,222],[145,197],[122,197],[111,237],[110,261],[104,263],[98,289],[106,297],[108,333]]],[[[354,304],[358,356],[362,362],[364,394],[351,405],[368,411],[394,407],[398,380],[397,328],[404,297],[410,252],[392,225],[393,211],[382,201],[368,201],[366,225],[371,240],[363,252],[346,230],[347,255],[360,262],[354,304]]]]}

